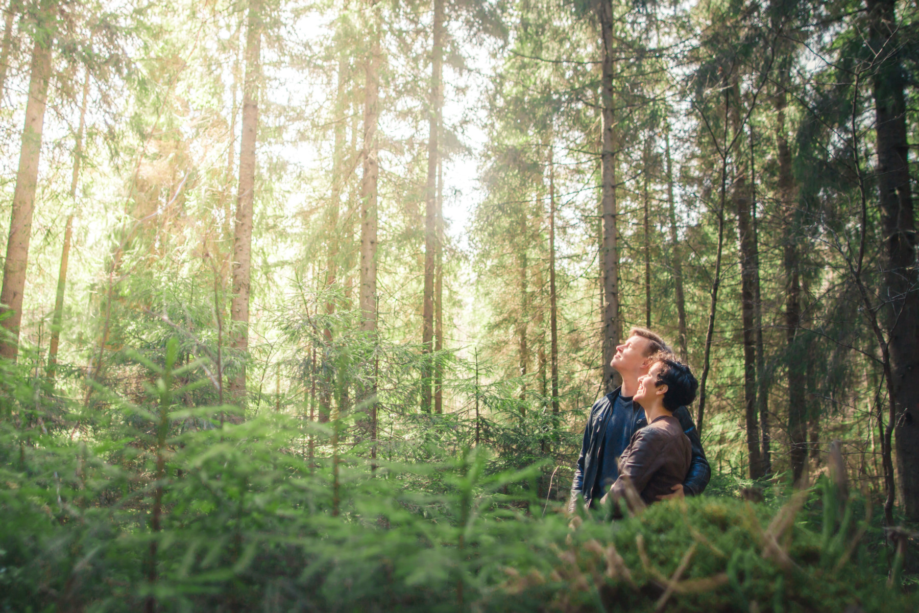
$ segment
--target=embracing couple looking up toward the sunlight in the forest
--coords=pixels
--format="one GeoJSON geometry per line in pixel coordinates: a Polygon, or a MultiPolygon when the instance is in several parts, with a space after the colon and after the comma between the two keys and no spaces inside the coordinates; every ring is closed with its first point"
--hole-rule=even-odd
{"type": "Polygon", "coordinates": [[[697,495],[711,471],[686,409],[698,382],[659,335],[632,328],[610,364],[622,385],[594,403],[574,470],[569,512],[619,501],[632,510],[665,498],[697,495]],[[638,498],[630,492],[638,494],[638,498]]]}

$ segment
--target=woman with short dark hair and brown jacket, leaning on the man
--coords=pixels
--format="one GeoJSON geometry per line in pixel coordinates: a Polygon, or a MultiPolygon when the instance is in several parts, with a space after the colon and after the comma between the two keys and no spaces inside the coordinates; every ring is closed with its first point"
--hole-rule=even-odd
{"type": "Polygon", "coordinates": [[[631,437],[619,458],[619,477],[600,501],[618,515],[619,500],[632,511],[650,505],[658,495],[671,494],[689,471],[692,451],[674,411],[696,400],[698,381],[686,364],[671,354],[652,358],[648,374],[639,378],[632,402],[641,404],[648,425],[631,437]],[[634,494],[638,494],[637,496],[634,494]]]}

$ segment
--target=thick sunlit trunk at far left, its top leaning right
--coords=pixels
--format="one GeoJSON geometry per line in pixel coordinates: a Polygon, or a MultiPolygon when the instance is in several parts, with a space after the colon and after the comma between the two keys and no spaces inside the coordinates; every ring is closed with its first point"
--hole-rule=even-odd
{"type": "Polygon", "coordinates": [[[42,0],[36,15],[35,42],[28,79],[26,125],[19,148],[19,170],[13,191],[13,211],[9,221],[9,240],[3,269],[3,289],[0,289],[0,312],[11,311],[0,325],[14,338],[0,342],[0,356],[15,360],[19,349],[19,324],[22,322],[22,292],[26,288],[28,242],[32,233],[32,213],[35,211],[35,188],[39,181],[41,131],[45,122],[45,103],[51,80],[51,48],[57,21],[54,4],[42,0]]]}

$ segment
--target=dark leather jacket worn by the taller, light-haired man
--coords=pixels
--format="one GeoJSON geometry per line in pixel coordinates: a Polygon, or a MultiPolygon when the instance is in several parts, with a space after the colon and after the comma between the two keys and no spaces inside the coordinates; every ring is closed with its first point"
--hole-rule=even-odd
{"type": "MultiPolygon", "coordinates": [[[[574,510],[578,494],[584,496],[584,505],[589,506],[593,495],[596,494],[594,486],[597,482],[600,484],[599,490],[605,493],[618,478],[617,456],[623,449],[616,449],[613,445],[601,445],[604,437],[607,437],[607,425],[610,422],[618,395],[619,388],[597,400],[590,410],[590,417],[587,419],[587,425],[584,426],[581,455],[578,457],[577,465],[574,469],[571,498],[568,503],[569,511],[574,510]],[[603,447],[602,462],[599,457],[601,447],[603,447]],[[597,470],[601,467],[602,473],[597,475],[597,470]]],[[[705,459],[705,452],[702,450],[702,441],[698,437],[698,430],[686,407],[681,406],[676,409],[674,417],[679,420],[680,426],[692,446],[692,460],[689,464],[686,480],[683,482],[683,493],[689,496],[702,494],[711,477],[709,460],[705,459]]],[[[619,420],[619,423],[622,426],[621,420],[619,420]]],[[[648,421],[645,419],[644,410],[636,405],[634,418],[627,420],[623,426],[628,431],[610,433],[610,435],[618,435],[624,440],[630,440],[631,435],[636,430],[647,425],[648,421]]]]}

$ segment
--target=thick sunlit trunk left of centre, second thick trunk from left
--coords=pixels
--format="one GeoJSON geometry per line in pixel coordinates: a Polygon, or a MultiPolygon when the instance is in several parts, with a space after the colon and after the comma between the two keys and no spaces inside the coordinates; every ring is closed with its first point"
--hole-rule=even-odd
{"type": "Polygon", "coordinates": [[[249,288],[252,278],[252,217],[255,202],[255,142],[258,132],[258,88],[261,84],[262,5],[250,0],[246,16],[243,133],[239,147],[239,191],[233,232],[233,301],[230,319],[239,326],[232,346],[243,354],[243,366],[230,382],[237,402],[245,401],[245,353],[249,348],[249,288]]]}

